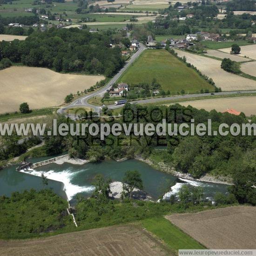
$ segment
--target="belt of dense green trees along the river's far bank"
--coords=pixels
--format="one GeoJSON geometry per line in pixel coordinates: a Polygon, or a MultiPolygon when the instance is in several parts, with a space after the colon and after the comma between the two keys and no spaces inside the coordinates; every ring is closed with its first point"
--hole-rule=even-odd
{"type": "MultiPolygon", "coordinates": [[[[249,123],[248,118],[241,113],[231,115],[220,113],[216,110],[210,112],[204,109],[196,109],[191,106],[182,107],[178,104],[170,107],[141,107],[127,103],[122,110],[121,118],[109,117],[110,126],[119,123],[148,123],[157,124],[162,122],[163,113],[167,123],[189,124],[190,119],[198,123],[205,123],[212,120],[212,129],[218,130],[221,123],[231,125],[237,123],[249,123]],[[176,114],[175,114],[176,113],[176,114]]],[[[106,114],[111,115],[111,111],[106,109],[106,114]]],[[[84,115],[85,116],[85,115],[84,115]]],[[[88,122],[89,124],[97,121],[99,124],[105,122],[103,118],[83,118],[78,123],[88,122]],[[97,120],[95,120],[97,118],[97,120]]],[[[108,118],[108,117],[107,117],[108,118]]],[[[256,117],[251,117],[251,122],[256,122],[256,117]]],[[[59,117],[58,124],[74,121],[59,117]]],[[[51,125],[47,127],[51,129],[51,125]]],[[[88,132],[88,131],[87,131],[88,132]]],[[[253,132],[253,131],[252,131],[253,132]]],[[[46,131],[47,133],[47,131],[46,131]]],[[[35,148],[20,157],[23,159],[28,156],[56,155],[68,150],[70,157],[88,159],[91,162],[104,160],[105,157],[111,159],[135,158],[141,156],[150,158],[153,162],[163,162],[175,170],[188,173],[194,178],[199,178],[204,174],[214,176],[226,176],[233,179],[234,185],[231,192],[236,196],[240,203],[256,204],[256,189],[253,187],[256,182],[255,176],[255,157],[256,157],[256,138],[255,136],[167,136],[166,138],[154,136],[125,136],[124,132],[120,136],[108,135],[102,141],[100,135],[86,137],[45,135],[45,145],[35,148]],[[159,144],[165,143],[167,150],[156,151],[154,148],[159,144]]],[[[1,148],[1,160],[17,155],[16,148],[18,140],[9,136],[6,138],[6,147],[1,148]],[[12,139],[13,138],[13,139],[12,139]]]]}

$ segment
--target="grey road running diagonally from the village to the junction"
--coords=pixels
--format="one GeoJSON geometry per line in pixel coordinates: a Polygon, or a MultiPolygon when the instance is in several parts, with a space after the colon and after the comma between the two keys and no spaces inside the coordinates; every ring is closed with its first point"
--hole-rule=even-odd
{"type": "Polygon", "coordinates": [[[64,108],[60,108],[57,110],[58,114],[63,114],[67,108],[74,108],[74,107],[88,107],[94,109],[95,112],[100,112],[101,107],[97,107],[88,103],[88,100],[95,96],[104,95],[108,89],[121,77],[121,75],[127,70],[127,68],[140,56],[140,54],[147,49],[143,44],[140,43],[138,51],[131,56],[128,62],[119,70],[117,74],[100,90],[93,92],[91,94],[82,96],[79,99],[73,101],[70,105],[64,108]]]}

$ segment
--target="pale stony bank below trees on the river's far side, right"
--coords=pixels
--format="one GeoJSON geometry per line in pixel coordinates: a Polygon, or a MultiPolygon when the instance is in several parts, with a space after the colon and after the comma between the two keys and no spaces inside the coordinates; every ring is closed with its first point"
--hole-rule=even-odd
{"type": "Polygon", "coordinates": [[[216,183],[216,184],[233,185],[231,178],[228,178],[228,177],[218,177],[218,178],[216,178],[214,176],[206,174],[206,175],[202,176],[199,179],[195,179],[191,175],[189,175],[188,173],[181,173],[181,172],[175,171],[175,169],[173,167],[170,167],[170,166],[168,166],[167,164],[165,164],[163,162],[159,162],[159,163],[155,164],[151,160],[149,160],[148,158],[144,159],[144,158],[139,157],[139,156],[135,157],[135,159],[139,160],[141,162],[147,163],[149,166],[155,168],[156,170],[175,175],[175,176],[177,176],[178,178],[181,178],[181,179],[186,179],[186,180],[191,180],[191,181],[198,181],[198,182],[211,182],[211,183],[216,183]]]}

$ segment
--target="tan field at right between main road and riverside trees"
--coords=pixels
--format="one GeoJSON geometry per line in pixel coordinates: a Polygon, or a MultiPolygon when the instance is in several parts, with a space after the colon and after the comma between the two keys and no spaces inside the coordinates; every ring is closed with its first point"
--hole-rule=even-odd
{"type": "Polygon", "coordinates": [[[239,112],[243,112],[246,116],[256,115],[256,96],[185,101],[179,104],[185,107],[190,105],[197,109],[203,108],[207,111],[216,109],[218,112],[226,111],[228,108],[234,108],[239,112]]]}

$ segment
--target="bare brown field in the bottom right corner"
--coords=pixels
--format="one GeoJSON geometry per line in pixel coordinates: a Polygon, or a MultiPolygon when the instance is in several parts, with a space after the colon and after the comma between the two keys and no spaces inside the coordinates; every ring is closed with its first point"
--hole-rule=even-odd
{"type": "Polygon", "coordinates": [[[208,249],[256,249],[256,207],[231,206],[166,218],[208,249]]]}

